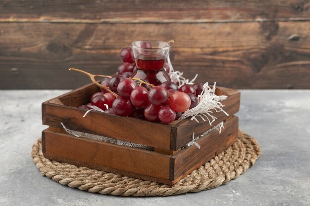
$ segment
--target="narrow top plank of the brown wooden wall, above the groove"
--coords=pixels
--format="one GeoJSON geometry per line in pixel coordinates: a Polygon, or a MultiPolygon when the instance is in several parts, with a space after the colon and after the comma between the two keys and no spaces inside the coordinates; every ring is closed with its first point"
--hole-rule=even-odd
{"type": "Polygon", "coordinates": [[[0,21],[40,22],[236,22],[303,20],[300,0],[3,0],[0,21]]]}

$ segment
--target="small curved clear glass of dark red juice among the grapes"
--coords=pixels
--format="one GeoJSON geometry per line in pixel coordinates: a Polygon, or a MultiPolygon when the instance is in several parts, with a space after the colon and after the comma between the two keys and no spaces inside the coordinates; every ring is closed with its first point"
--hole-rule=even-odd
{"type": "Polygon", "coordinates": [[[166,41],[133,41],[131,48],[137,66],[133,78],[146,80],[154,85],[171,81],[164,71],[171,43],[166,41]]]}

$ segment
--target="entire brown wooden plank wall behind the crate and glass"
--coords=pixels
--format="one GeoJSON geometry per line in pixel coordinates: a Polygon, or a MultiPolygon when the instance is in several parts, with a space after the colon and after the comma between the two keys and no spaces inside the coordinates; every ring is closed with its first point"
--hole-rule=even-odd
{"type": "Polygon", "coordinates": [[[310,88],[309,0],[1,0],[0,89],[75,88],[122,47],[175,41],[174,68],[234,88],[310,88]]]}

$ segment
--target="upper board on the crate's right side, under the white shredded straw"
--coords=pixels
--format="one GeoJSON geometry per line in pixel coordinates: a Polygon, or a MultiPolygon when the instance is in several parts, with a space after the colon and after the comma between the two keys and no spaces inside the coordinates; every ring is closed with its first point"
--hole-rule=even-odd
{"type": "MultiPolygon", "coordinates": [[[[236,89],[229,88],[216,88],[217,95],[226,95],[227,98],[222,101],[225,105],[223,110],[227,112],[230,116],[233,116],[239,111],[240,108],[240,91],[236,89]]],[[[195,132],[195,136],[203,134],[208,129],[212,128],[214,125],[223,122],[228,117],[223,112],[213,111],[212,115],[217,118],[212,125],[209,122],[203,121],[200,117],[197,117],[199,123],[196,121],[186,119],[182,122],[174,124],[172,127],[172,141],[171,149],[176,150],[183,147],[185,144],[192,140],[192,133],[195,132]]],[[[206,118],[205,118],[206,119],[206,118]]]]}

